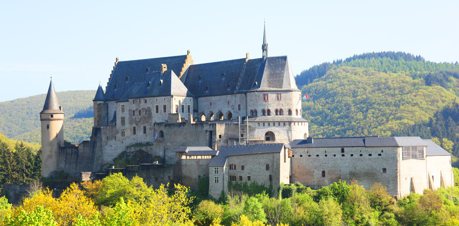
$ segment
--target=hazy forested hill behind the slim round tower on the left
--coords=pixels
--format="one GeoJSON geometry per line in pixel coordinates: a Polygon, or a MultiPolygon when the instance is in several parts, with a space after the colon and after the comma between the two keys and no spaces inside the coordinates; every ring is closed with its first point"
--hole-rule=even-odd
{"type": "MultiPolygon", "coordinates": [[[[92,98],[96,91],[59,92],[65,112],[64,139],[72,143],[88,139],[92,128],[92,98]]],[[[0,133],[15,140],[41,143],[39,113],[46,94],[0,102],[0,133]]]]}

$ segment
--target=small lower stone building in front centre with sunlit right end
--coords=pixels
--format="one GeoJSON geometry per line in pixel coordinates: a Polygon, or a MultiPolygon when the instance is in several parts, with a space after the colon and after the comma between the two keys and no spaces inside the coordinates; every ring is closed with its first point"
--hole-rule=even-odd
{"type": "Polygon", "coordinates": [[[289,149],[284,144],[223,146],[209,163],[209,195],[218,199],[228,182],[271,184],[277,191],[290,181],[289,149]]]}

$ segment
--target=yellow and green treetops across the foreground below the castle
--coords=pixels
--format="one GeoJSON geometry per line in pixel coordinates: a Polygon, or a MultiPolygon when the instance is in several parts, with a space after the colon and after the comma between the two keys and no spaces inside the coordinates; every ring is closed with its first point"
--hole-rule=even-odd
{"type": "Polygon", "coordinates": [[[71,184],[57,198],[37,190],[12,207],[0,197],[0,225],[457,225],[459,188],[424,190],[395,201],[386,187],[366,190],[339,181],[312,190],[299,183],[268,195],[231,191],[222,202],[193,204],[181,185],[147,186],[139,177],[113,174],[101,181],[71,184]],[[282,194],[282,195],[281,195],[282,194]]]}

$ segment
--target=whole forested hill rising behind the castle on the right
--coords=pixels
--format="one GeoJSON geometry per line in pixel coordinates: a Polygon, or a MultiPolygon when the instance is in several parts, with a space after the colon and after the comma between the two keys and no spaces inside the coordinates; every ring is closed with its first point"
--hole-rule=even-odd
{"type": "Polygon", "coordinates": [[[296,77],[313,136],[432,138],[459,155],[459,64],[402,52],[365,53],[296,77]]]}

